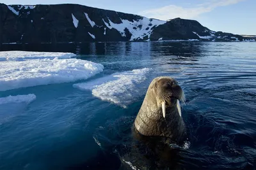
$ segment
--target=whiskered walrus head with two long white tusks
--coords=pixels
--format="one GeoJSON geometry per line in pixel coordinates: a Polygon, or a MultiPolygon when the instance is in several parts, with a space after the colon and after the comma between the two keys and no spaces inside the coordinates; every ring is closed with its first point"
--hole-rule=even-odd
{"type": "Polygon", "coordinates": [[[152,81],[152,90],[156,94],[157,106],[162,107],[163,117],[166,115],[166,107],[177,106],[181,117],[180,101],[184,103],[185,96],[178,82],[167,76],[155,78],[152,81]]]}

